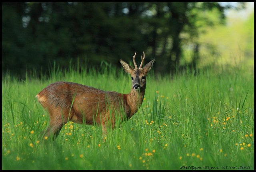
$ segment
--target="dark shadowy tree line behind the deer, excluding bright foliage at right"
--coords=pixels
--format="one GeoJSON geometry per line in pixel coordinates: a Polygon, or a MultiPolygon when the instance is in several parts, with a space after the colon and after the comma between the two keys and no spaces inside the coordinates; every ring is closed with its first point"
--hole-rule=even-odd
{"type": "Polygon", "coordinates": [[[193,65],[198,14],[215,9],[224,22],[225,8],[217,2],[2,2],[2,73],[47,73],[49,63],[65,68],[77,58],[81,65],[120,65],[135,51],[137,63],[145,51],[145,63],[155,57],[155,71],[170,73],[183,67],[181,34],[195,45],[186,64],[193,65]]]}

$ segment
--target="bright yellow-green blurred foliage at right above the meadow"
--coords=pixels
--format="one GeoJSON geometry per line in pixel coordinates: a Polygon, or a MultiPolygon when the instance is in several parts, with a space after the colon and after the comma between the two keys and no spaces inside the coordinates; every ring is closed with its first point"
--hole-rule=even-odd
{"type": "Polygon", "coordinates": [[[198,37],[200,57],[204,57],[198,63],[200,67],[209,63],[240,65],[241,61],[247,67],[254,67],[254,12],[246,21],[230,17],[228,26],[205,29],[206,34],[198,37]]]}

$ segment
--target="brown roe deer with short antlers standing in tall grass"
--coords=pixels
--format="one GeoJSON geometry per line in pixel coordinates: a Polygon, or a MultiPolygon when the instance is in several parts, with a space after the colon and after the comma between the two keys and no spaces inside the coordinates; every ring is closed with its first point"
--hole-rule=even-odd
{"type": "MultiPolygon", "coordinates": [[[[56,138],[60,129],[68,122],[93,125],[102,125],[104,138],[106,129],[110,125],[115,127],[117,117],[130,119],[142,104],[146,76],[154,60],[142,68],[144,57],[138,68],[135,63],[136,52],[133,56],[135,69],[120,59],[124,71],[132,75],[132,90],[128,94],[115,91],[102,91],[72,82],[55,82],[44,88],[36,95],[38,102],[48,110],[50,125],[41,133],[42,137],[56,138]]],[[[105,140],[105,139],[104,139],[105,140]]]]}

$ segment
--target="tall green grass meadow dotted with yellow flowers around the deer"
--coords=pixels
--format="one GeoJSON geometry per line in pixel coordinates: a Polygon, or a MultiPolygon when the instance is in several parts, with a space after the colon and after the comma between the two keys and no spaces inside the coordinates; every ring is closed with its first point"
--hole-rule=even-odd
{"type": "Polygon", "coordinates": [[[130,75],[104,63],[50,71],[2,77],[3,170],[254,170],[253,68],[150,71],[142,107],[106,142],[100,126],[72,122],[56,140],[41,140],[50,119],[35,95],[56,81],[129,93],[130,75]]]}

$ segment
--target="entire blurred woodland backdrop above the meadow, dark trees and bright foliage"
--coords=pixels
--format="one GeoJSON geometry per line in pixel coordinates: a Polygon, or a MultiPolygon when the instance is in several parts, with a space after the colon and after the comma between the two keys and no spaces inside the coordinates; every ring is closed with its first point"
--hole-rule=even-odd
{"type": "Polygon", "coordinates": [[[2,75],[156,58],[155,73],[254,69],[254,2],[2,2],[2,75]]]}

